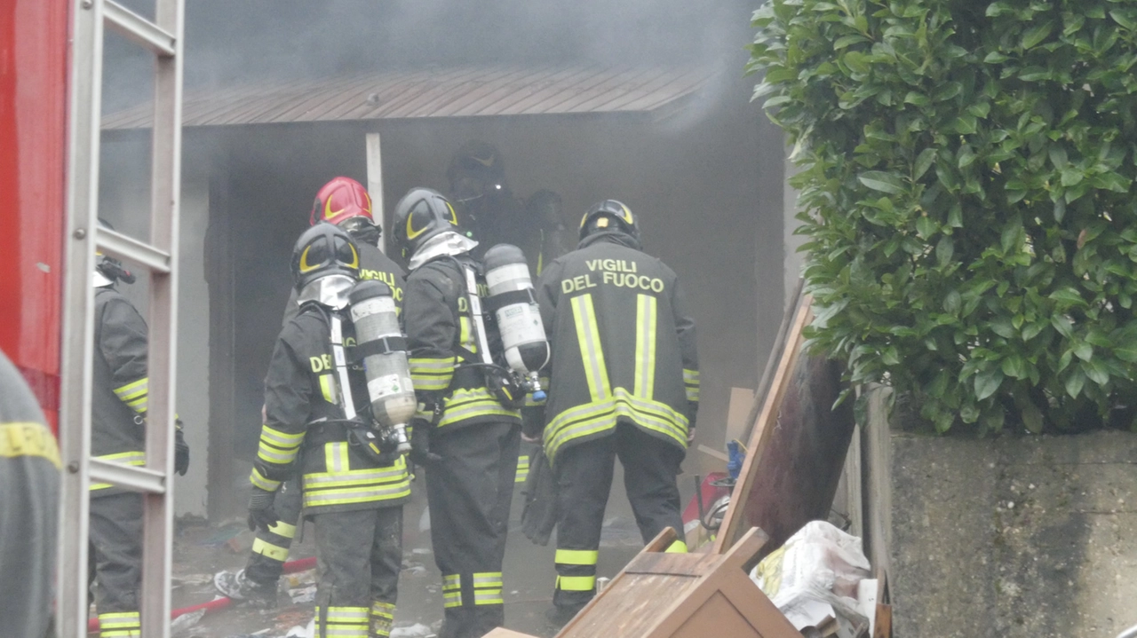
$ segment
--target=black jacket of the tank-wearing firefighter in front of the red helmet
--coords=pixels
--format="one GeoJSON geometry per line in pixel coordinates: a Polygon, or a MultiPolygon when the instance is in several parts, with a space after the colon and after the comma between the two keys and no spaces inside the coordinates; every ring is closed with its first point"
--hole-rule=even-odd
{"type": "MultiPolygon", "coordinates": [[[[265,377],[266,421],[250,481],[273,492],[299,471],[310,514],[401,505],[410,495],[404,457],[381,467],[349,445],[343,425],[327,422],[346,418],[330,337],[334,313],[306,303],[281,330],[265,377]]],[[[338,316],[350,342],[348,312],[338,316]]],[[[367,410],[363,372],[352,369],[349,379],[357,412],[367,410]]]]}

